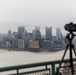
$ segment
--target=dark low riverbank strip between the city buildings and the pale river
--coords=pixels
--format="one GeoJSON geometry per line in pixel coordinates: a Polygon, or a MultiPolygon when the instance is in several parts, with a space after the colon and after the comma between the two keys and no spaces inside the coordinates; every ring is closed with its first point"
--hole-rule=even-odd
{"type": "Polygon", "coordinates": [[[30,52],[57,52],[61,50],[65,50],[65,48],[9,48],[7,46],[0,46],[1,50],[8,50],[8,51],[30,51],[30,52]]]}

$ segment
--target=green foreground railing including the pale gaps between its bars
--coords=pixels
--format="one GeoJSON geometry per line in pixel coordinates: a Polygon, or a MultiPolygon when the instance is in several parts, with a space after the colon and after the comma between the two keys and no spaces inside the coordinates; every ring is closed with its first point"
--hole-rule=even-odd
{"type": "MultiPolygon", "coordinates": [[[[60,61],[61,60],[2,67],[0,68],[0,73],[16,70],[16,73],[12,73],[11,75],[44,75],[46,73],[47,75],[55,75],[56,67],[58,67],[57,65],[60,61]],[[39,67],[41,68],[39,69],[39,67]],[[32,68],[31,71],[30,68],[32,68]],[[33,70],[33,68],[35,69],[33,70]],[[28,71],[20,72],[23,69],[28,69],[28,71]]],[[[66,59],[63,63],[68,63],[69,61],[69,59],[66,59]]],[[[73,61],[76,61],[76,59],[74,58],[73,61]]]]}

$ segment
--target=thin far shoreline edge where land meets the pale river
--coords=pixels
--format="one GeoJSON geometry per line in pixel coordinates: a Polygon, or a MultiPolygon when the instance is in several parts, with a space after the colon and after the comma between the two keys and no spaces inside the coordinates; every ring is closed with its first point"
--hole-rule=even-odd
{"type": "Polygon", "coordinates": [[[65,49],[61,49],[61,50],[51,50],[51,49],[43,49],[43,48],[39,48],[39,49],[18,49],[18,48],[0,48],[0,50],[7,50],[7,51],[28,51],[28,52],[34,52],[34,53],[54,53],[54,52],[59,52],[59,51],[63,51],[65,49]]]}

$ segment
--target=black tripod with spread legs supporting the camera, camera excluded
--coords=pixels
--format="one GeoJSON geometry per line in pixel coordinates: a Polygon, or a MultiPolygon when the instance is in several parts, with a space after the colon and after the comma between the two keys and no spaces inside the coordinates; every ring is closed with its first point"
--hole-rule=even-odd
{"type": "Polygon", "coordinates": [[[72,44],[72,40],[73,40],[74,36],[75,36],[75,34],[73,34],[73,32],[70,32],[70,33],[67,34],[67,36],[66,36],[67,39],[68,39],[68,41],[69,41],[69,44],[66,46],[66,49],[65,49],[65,52],[64,52],[64,54],[63,54],[62,60],[61,60],[61,62],[60,62],[60,64],[59,64],[59,68],[57,69],[57,72],[56,72],[55,75],[58,75],[58,73],[59,73],[59,69],[61,68],[61,65],[62,65],[62,63],[63,63],[64,57],[65,57],[65,55],[66,55],[66,52],[67,52],[68,48],[69,48],[69,57],[70,57],[71,73],[72,73],[72,75],[74,75],[73,55],[72,55],[72,50],[73,50],[73,51],[74,51],[74,54],[75,54],[75,56],[76,56],[75,47],[74,47],[74,45],[72,44]]]}

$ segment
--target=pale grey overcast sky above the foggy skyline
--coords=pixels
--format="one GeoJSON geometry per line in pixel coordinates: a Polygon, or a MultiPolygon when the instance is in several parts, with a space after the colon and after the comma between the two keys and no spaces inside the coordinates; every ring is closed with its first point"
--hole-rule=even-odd
{"type": "Polygon", "coordinates": [[[17,31],[25,26],[31,32],[40,26],[42,34],[45,27],[59,27],[65,34],[64,25],[76,23],[76,0],[0,0],[0,32],[9,29],[17,31]]]}

